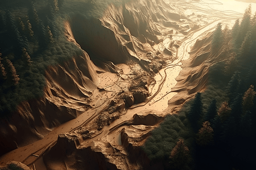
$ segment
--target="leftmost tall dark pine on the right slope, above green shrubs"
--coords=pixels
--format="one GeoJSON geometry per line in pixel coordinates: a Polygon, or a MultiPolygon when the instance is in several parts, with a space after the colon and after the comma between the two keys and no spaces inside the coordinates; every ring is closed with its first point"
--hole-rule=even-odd
{"type": "Polygon", "coordinates": [[[201,101],[201,93],[197,92],[195,99],[191,105],[191,109],[188,112],[188,120],[191,123],[192,129],[197,132],[201,124],[201,117],[203,116],[203,104],[201,101]]]}

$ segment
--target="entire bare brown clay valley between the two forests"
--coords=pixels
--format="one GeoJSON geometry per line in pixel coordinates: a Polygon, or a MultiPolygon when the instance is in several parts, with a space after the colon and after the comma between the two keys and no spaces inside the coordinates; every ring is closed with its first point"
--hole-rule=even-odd
{"type": "Polygon", "coordinates": [[[100,18],[73,12],[63,36],[82,53],[48,66],[44,95],[1,120],[0,169],[150,169],[141,146],[207,89],[209,67],[223,60],[209,57],[212,32],[249,5],[232,2],[243,6],[136,0],[110,3],[100,18]]]}

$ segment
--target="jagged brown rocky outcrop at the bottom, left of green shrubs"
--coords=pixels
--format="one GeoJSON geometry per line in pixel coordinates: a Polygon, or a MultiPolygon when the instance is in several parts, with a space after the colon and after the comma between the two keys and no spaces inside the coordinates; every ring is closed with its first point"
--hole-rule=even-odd
{"type": "Polygon", "coordinates": [[[150,160],[141,146],[163,120],[164,113],[148,110],[136,113],[129,122],[120,122],[106,131],[80,127],[60,134],[55,146],[43,156],[47,169],[58,164],[67,169],[141,169],[150,160]],[[90,135],[88,135],[90,134],[90,135]],[[83,136],[85,135],[86,138],[83,136]]]}

